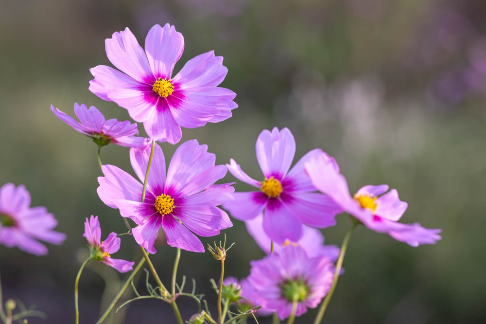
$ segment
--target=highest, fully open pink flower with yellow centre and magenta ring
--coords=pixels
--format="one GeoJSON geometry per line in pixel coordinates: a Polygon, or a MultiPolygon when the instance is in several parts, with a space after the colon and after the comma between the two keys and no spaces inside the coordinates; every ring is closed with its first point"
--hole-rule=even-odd
{"type": "Polygon", "coordinates": [[[121,72],[104,65],[91,69],[89,90],[127,109],[156,141],[178,143],[181,126],[221,122],[238,107],[233,102],[236,94],[218,87],[228,70],[214,51],[192,58],[172,77],[184,51],[184,38],[174,26],[152,27],[145,52],[128,28],[114,33],[105,45],[108,59],[121,72]]]}

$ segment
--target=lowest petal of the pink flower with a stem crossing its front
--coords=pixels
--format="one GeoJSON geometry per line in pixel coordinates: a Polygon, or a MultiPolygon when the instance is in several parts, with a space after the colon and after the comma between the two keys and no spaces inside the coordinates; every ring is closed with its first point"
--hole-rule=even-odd
{"type": "Polygon", "coordinates": [[[164,216],[162,228],[167,237],[167,244],[170,246],[191,252],[204,252],[201,241],[184,225],[179,223],[174,216],[164,216]]]}

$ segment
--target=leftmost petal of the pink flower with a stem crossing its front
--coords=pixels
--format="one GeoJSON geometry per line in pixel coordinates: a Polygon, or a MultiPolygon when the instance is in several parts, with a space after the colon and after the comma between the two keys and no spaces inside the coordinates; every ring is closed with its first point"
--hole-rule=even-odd
{"type": "Polygon", "coordinates": [[[109,207],[117,208],[116,199],[140,201],[143,185],[131,175],[114,165],[102,166],[104,177],[98,177],[100,186],[96,190],[100,199],[109,207]]]}

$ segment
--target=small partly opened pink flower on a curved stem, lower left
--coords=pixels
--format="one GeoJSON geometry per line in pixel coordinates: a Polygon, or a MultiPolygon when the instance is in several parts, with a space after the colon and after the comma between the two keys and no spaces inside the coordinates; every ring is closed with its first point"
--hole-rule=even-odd
{"type": "Polygon", "coordinates": [[[101,227],[98,221],[98,216],[93,216],[86,218],[85,222],[85,234],[90,250],[91,257],[96,261],[100,261],[107,266],[110,266],[120,272],[127,272],[132,270],[134,262],[113,259],[111,254],[118,252],[120,250],[120,237],[117,237],[115,232],[112,232],[106,237],[106,239],[101,241],[101,227]]]}

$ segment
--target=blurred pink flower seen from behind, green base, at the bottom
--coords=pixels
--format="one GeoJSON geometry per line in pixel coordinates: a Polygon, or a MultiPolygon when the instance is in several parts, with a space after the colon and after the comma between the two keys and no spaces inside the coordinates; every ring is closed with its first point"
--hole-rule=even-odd
{"type": "MultiPolygon", "coordinates": [[[[252,261],[248,283],[254,289],[254,303],[276,310],[280,320],[290,316],[297,302],[295,316],[315,308],[328,293],[334,266],[328,257],[308,257],[301,247],[287,246],[279,254],[252,261]]],[[[244,293],[245,287],[242,288],[244,293]]]]}

